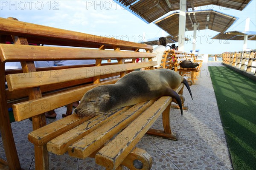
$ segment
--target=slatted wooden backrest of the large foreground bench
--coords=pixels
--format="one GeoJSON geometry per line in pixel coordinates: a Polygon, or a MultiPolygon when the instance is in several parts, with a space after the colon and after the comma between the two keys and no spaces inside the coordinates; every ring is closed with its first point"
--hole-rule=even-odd
{"type": "Polygon", "coordinates": [[[44,124],[41,113],[76,102],[91,88],[114,83],[130,71],[156,65],[151,59],[155,57],[150,53],[151,45],[24,23],[13,18],[0,18],[0,36],[3,43],[0,44],[1,70],[5,62],[22,65],[22,71],[4,73],[9,88],[6,98],[9,106],[13,105],[16,121],[29,117],[40,119],[37,123],[33,121],[34,129],[44,124]],[[15,45],[4,44],[6,41],[13,41],[15,45]],[[65,47],[29,46],[28,43],[65,47]],[[140,49],[146,52],[139,52],[140,49]],[[148,58],[148,62],[135,63],[136,58],[148,58]],[[95,59],[96,63],[48,68],[35,68],[34,64],[34,61],[77,59],[95,59]],[[104,59],[117,62],[103,64],[104,59]]]}

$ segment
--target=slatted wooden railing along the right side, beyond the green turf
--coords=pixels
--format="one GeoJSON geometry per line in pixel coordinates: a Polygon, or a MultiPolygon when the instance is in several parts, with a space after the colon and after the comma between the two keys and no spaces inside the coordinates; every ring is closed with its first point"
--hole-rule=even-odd
{"type": "Polygon", "coordinates": [[[255,63],[256,50],[223,53],[223,65],[226,65],[252,79],[256,79],[255,63]]]}

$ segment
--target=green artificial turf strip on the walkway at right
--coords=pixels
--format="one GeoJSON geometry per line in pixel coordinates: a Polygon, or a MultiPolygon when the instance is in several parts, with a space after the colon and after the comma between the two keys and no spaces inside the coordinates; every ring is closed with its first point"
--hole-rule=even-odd
{"type": "Polygon", "coordinates": [[[235,170],[256,170],[256,82],[227,67],[208,67],[235,170]]]}

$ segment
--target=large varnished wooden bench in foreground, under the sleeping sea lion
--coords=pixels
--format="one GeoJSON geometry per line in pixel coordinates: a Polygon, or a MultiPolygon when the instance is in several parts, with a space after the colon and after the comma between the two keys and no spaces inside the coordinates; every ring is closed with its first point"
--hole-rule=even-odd
{"type": "MultiPolygon", "coordinates": [[[[24,23],[13,18],[0,18],[0,35],[0,109],[3,113],[0,123],[10,169],[20,169],[7,111],[10,103],[16,121],[32,117],[33,131],[28,138],[35,145],[37,170],[49,169],[48,151],[58,155],[68,152],[77,158],[95,157],[96,163],[106,169],[122,169],[124,165],[129,169],[135,166],[146,170],[151,167],[151,156],[135,147],[145,133],[177,140],[169,123],[172,102],[169,96],[120,108],[105,116],[81,118],[71,114],[46,125],[44,112],[70,105],[91,88],[113,84],[130,71],[152,69],[156,63],[152,61],[155,54],[150,53],[151,45],[24,23]],[[15,45],[4,44],[6,40],[12,40],[15,45]],[[84,48],[32,47],[28,42],[84,48]],[[139,52],[140,49],[146,53],[139,52]],[[148,58],[148,62],[135,63],[136,58],[148,58]],[[96,64],[49,68],[35,68],[34,64],[35,61],[70,59],[96,59],[96,64]],[[102,64],[104,59],[117,62],[102,64]],[[131,61],[125,62],[125,59],[131,61]],[[15,61],[21,63],[22,73],[5,71],[4,63],[15,61]],[[6,81],[8,91],[4,87],[6,81]],[[11,97],[7,97],[9,95],[11,97]],[[150,129],[161,114],[164,131],[150,129]]],[[[182,94],[183,83],[175,91],[182,94]]]]}

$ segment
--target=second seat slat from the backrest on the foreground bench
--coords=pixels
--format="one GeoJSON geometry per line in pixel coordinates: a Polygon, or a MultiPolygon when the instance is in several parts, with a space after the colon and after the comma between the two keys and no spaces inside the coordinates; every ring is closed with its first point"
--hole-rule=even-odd
{"type": "Polygon", "coordinates": [[[107,122],[112,121],[113,118],[119,116],[129,108],[130,107],[120,108],[115,111],[105,113],[104,115],[95,116],[81,125],[67,131],[66,133],[56,136],[56,138],[47,143],[48,151],[57,155],[63,155],[65,152],[67,152],[67,149],[71,144],[91,133],[93,130],[96,130],[96,128],[99,128],[107,122]]]}

